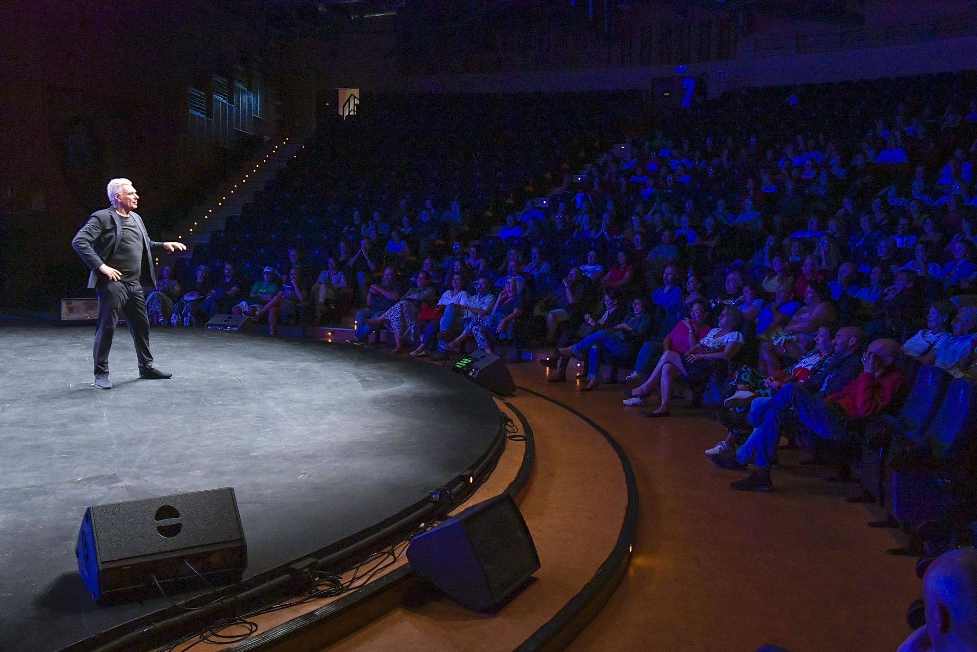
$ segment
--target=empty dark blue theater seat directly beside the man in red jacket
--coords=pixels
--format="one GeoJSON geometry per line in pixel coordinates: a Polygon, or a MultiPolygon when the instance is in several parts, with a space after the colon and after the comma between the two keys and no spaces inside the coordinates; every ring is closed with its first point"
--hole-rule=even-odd
{"type": "Polygon", "coordinates": [[[922,443],[923,433],[936,416],[953,379],[939,367],[927,365],[920,368],[902,410],[895,415],[873,418],[867,424],[866,441],[858,465],[862,487],[879,504],[886,506],[882,480],[892,442],[900,443],[897,449],[904,441],[917,446],[922,443]]]}

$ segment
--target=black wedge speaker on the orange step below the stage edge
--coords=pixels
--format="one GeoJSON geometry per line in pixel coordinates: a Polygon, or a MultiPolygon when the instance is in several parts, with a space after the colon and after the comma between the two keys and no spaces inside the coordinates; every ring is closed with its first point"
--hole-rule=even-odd
{"type": "Polygon", "coordinates": [[[417,575],[474,611],[503,604],[539,570],[529,528],[508,494],[480,502],[414,537],[417,575]]]}

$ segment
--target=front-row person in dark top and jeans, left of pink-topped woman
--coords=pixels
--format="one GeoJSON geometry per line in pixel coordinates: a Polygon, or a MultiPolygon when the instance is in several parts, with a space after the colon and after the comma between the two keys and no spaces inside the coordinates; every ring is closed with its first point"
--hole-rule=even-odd
{"type": "MultiPolygon", "coordinates": [[[[573,346],[559,349],[563,358],[583,358],[588,355],[587,377],[589,382],[580,391],[589,392],[600,384],[600,366],[609,359],[621,360],[637,352],[652,327],[646,299],[637,296],[631,301],[631,317],[611,328],[601,328],[581,339],[573,346]]],[[[567,379],[566,369],[559,369],[547,380],[559,382],[567,379]]]]}

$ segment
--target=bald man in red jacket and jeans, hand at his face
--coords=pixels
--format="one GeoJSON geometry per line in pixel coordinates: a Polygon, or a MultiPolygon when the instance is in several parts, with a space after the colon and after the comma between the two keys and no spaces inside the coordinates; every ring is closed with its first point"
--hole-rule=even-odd
{"type": "Polygon", "coordinates": [[[862,356],[862,373],[840,392],[821,398],[797,383],[781,389],[769,404],[763,422],[736,451],[736,456],[713,456],[723,468],[743,468],[754,457],[756,470],[730,487],[740,491],[772,492],[770,466],[781,438],[784,413],[793,410],[804,425],[818,437],[841,441],[845,423],[851,418],[865,418],[885,410],[906,387],[906,377],[893,365],[899,356],[899,342],[876,339],[862,356]]]}

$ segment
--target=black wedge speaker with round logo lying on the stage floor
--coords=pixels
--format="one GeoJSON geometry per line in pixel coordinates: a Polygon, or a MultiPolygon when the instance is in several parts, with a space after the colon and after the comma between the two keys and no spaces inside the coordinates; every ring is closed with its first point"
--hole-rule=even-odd
{"type": "Polygon", "coordinates": [[[78,573],[100,602],[231,584],[247,566],[234,489],[89,507],[74,548],[78,573]],[[153,580],[155,578],[155,580],[153,580]]]}

